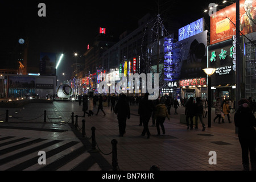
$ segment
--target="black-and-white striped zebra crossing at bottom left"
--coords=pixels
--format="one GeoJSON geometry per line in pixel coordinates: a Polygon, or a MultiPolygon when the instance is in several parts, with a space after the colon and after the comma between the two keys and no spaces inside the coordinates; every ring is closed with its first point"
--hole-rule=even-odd
{"type": "Polygon", "coordinates": [[[0,136],[0,171],[101,171],[80,141],[0,136]],[[39,164],[39,151],[46,164],[39,164]]]}

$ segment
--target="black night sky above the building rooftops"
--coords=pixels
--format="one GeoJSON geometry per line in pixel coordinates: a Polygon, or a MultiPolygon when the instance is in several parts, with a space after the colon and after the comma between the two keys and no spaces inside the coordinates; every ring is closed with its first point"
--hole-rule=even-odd
{"type": "MultiPolygon", "coordinates": [[[[28,67],[39,67],[40,52],[64,53],[57,75],[70,72],[73,54],[83,54],[100,27],[118,38],[125,30],[135,30],[147,13],[166,20],[178,19],[181,26],[207,17],[203,12],[211,1],[2,1],[1,50],[14,49],[18,39],[28,36],[28,67]],[[46,4],[46,17],[39,17],[39,3],[46,4]]],[[[220,1],[218,1],[220,2],[220,1]]],[[[217,3],[217,2],[215,2],[217,3]]],[[[209,26],[209,24],[208,24],[209,26]]]]}

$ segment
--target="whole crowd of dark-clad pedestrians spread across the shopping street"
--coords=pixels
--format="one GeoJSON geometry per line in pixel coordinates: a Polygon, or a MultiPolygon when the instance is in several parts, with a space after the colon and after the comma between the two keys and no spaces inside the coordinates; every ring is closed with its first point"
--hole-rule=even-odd
{"type": "MultiPolygon", "coordinates": [[[[174,107],[174,114],[177,113],[179,107],[185,107],[185,121],[187,123],[187,129],[198,129],[198,120],[202,125],[202,130],[205,130],[205,123],[203,118],[207,118],[208,114],[208,100],[201,99],[201,97],[190,97],[187,99],[181,99],[180,103],[176,98],[161,97],[160,100],[148,100],[148,93],[143,97],[129,97],[125,94],[119,96],[79,96],[79,105],[82,104],[82,111],[90,117],[93,115],[93,108],[97,109],[98,115],[101,110],[104,116],[106,115],[103,107],[104,102],[108,102],[110,111],[117,115],[119,137],[123,137],[126,133],[126,121],[130,119],[130,106],[138,106],[139,125],[143,125],[142,136],[147,134],[147,138],[150,138],[150,130],[148,129],[148,123],[152,119],[152,126],[156,126],[157,134],[166,134],[164,128],[164,121],[166,118],[170,121],[171,107],[174,107]],[[97,108],[98,105],[98,108],[97,108]],[[193,127],[195,125],[195,128],[193,127]]],[[[213,102],[216,117],[213,122],[224,123],[225,117],[228,118],[228,122],[232,123],[230,113],[234,113],[234,123],[238,128],[238,138],[242,150],[242,165],[244,170],[249,170],[251,164],[251,170],[256,170],[256,118],[254,113],[256,111],[256,102],[251,97],[248,99],[242,98],[238,101],[238,108],[236,110],[235,102],[227,99],[220,100],[220,97],[216,97],[216,101],[213,102]]]]}

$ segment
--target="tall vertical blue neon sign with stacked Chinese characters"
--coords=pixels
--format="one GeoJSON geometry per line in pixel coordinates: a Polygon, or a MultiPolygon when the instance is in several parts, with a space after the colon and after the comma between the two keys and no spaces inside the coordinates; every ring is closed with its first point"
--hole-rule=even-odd
{"type": "Polygon", "coordinates": [[[172,81],[174,78],[173,40],[164,38],[164,81],[172,81]]]}

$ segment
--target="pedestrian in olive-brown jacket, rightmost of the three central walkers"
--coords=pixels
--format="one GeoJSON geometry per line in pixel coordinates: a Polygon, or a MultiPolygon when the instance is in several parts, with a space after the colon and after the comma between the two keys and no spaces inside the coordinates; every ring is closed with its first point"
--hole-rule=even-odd
{"type": "Polygon", "coordinates": [[[166,108],[166,105],[162,102],[155,107],[155,115],[154,118],[156,119],[156,130],[158,131],[158,135],[160,135],[160,127],[162,129],[163,135],[166,134],[166,130],[164,129],[164,121],[166,120],[166,117],[170,121],[170,117],[166,108]]]}

